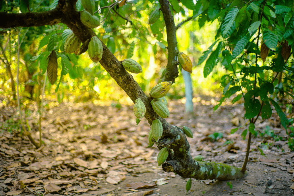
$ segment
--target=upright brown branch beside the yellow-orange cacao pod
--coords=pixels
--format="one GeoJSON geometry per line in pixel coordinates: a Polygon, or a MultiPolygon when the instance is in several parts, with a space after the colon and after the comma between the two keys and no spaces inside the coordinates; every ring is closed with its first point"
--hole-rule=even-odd
{"type": "Polygon", "coordinates": [[[177,37],[176,37],[176,25],[173,20],[173,15],[171,14],[171,9],[169,8],[168,0],[159,0],[160,9],[163,14],[163,19],[166,23],[166,34],[168,46],[168,63],[166,66],[165,81],[175,82],[176,77],[178,77],[178,61],[177,61],[177,37]]]}

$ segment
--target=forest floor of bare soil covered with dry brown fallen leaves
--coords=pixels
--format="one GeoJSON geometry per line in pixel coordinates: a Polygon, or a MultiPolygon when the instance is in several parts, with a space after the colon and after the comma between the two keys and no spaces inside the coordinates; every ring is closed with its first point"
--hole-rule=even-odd
{"type": "MultiPolygon", "coordinates": [[[[248,126],[233,134],[231,129],[245,124],[244,106],[225,105],[213,112],[210,99],[194,103],[195,119],[191,120],[183,115],[181,100],[168,100],[170,117],[166,120],[191,128],[194,138],[188,141],[192,157],[202,155],[204,161],[242,167],[248,134],[245,140],[241,134],[248,126]],[[213,140],[211,134],[220,138],[213,140]]],[[[188,193],[187,179],[163,172],[158,166],[156,145],[146,148],[150,125],[144,118],[136,126],[133,106],[51,104],[42,119],[44,145],[39,149],[21,136],[19,129],[7,131],[18,126],[15,105],[6,106],[2,112],[0,122],[6,130],[0,130],[0,196],[293,196],[293,151],[275,110],[269,120],[255,124],[265,135],[251,139],[246,177],[230,181],[192,179],[188,193]],[[278,136],[282,140],[277,140],[278,136]],[[231,189],[227,182],[231,182],[231,189]]],[[[287,117],[293,117],[293,113],[287,117]]],[[[27,112],[26,119],[38,141],[36,110],[27,112]]]]}

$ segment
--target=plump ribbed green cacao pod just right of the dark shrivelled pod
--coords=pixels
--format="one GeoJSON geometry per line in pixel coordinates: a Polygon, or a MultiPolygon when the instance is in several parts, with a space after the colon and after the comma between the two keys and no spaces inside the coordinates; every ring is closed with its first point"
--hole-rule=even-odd
{"type": "Polygon", "coordinates": [[[93,62],[98,62],[102,58],[103,46],[98,37],[94,36],[91,38],[88,45],[88,54],[93,62]]]}

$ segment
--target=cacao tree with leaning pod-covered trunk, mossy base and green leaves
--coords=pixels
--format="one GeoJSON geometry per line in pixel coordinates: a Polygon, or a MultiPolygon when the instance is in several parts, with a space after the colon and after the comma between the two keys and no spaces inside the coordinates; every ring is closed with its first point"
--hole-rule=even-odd
{"type": "MultiPolygon", "coordinates": [[[[33,1],[20,1],[19,4],[18,1],[14,1],[11,4],[1,1],[0,28],[12,29],[14,27],[59,24],[59,29],[42,36],[39,45],[41,53],[32,57],[30,61],[38,64],[38,69],[43,74],[47,71],[51,84],[56,83],[59,78],[55,89],[57,92],[64,75],[69,73],[75,77],[81,74],[75,54],[82,54],[88,50],[91,60],[99,61],[133,103],[138,102],[138,107],[140,107],[138,111],[142,110],[141,113],[145,111],[144,117],[151,125],[151,129],[156,130],[156,132],[152,131],[152,134],[149,134],[151,135],[148,137],[149,145],[156,142],[160,149],[158,164],[162,164],[163,170],[166,172],[175,172],[184,178],[200,180],[241,178],[246,170],[250,138],[252,134],[255,134],[254,123],[260,115],[262,118],[269,118],[271,115],[269,101],[275,106],[282,125],[287,128],[289,124],[278,103],[273,100],[273,97],[270,97],[274,92],[275,78],[278,74],[265,77],[264,71],[286,73],[283,80],[287,81],[284,82],[286,85],[280,86],[280,90],[290,95],[293,94],[293,1],[199,0],[195,4],[193,0],[149,0],[143,2],[120,0],[89,1],[85,4],[83,1],[76,0],[54,0],[50,3],[40,2],[41,7],[32,3],[33,1]],[[137,20],[141,14],[148,14],[149,21],[137,20]],[[185,16],[186,19],[176,26],[174,18],[179,15],[185,16]],[[153,93],[150,93],[151,96],[147,96],[133,76],[128,73],[128,71],[140,73],[140,67],[129,68],[130,62],[123,65],[124,62],[119,61],[113,54],[119,43],[112,35],[119,36],[117,31],[124,30],[126,32],[128,30],[131,37],[140,34],[146,41],[148,41],[147,36],[153,35],[156,37],[158,45],[167,49],[168,52],[168,63],[161,78],[162,82],[168,82],[170,87],[178,77],[179,70],[192,71],[192,62],[189,57],[178,51],[179,40],[177,40],[176,31],[181,28],[181,25],[196,19],[200,27],[206,22],[214,20],[218,20],[220,23],[216,41],[198,61],[199,65],[208,58],[203,72],[205,77],[213,71],[218,62],[221,62],[229,72],[228,75],[223,76],[221,81],[224,86],[224,95],[220,104],[240,91],[241,93],[233,101],[237,101],[241,96],[245,100],[245,118],[250,121],[250,133],[242,170],[222,163],[202,162],[202,159],[194,160],[191,157],[190,145],[186,139],[186,135],[193,137],[191,130],[186,127],[173,126],[161,117],[163,114],[158,115],[156,109],[153,108],[153,104],[156,103],[152,103],[152,101],[157,101],[153,100],[156,97],[153,96],[153,93]],[[96,28],[99,24],[103,25],[103,29],[96,28]],[[112,34],[100,37],[99,30],[105,29],[112,34]],[[261,49],[259,49],[261,34],[263,42],[261,49]],[[163,35],[166,36],[167,41],[163,39],[163,35]],[[103,40],[107,43],[105,44],[103,40]],[[82,43],[80,48],[78,47],[79,41],[82,43]],[[44,46],[46,48],[42,48],[44,46]],[[269,51],[269,48],[272,50],[269,51]],[[269,58],[266,63],[269,66],[260,66],[258,59],[266,60],[267,56],[269,58]],[[57,59],[59,58],[61,58],[60,76],[57,75],[57,59]],[[158,134],[159,132],[160,134],[158,134]]],[[[124,41],[122,40],[122,42],[124,41]]],[[[133,56],[134,42],[125,44],[130,45],[127,53],[127,59],[129,59],[133,56]]],[[[158,83],[163,84],[159,80],[158,83]]],[[[167,86],[160,87],[166,88],[167,86]]],[[[137,117],[136,112],[135,114],[137,117]]],[[[139,114],[138,116],[142,118],[139,114]]],[[[139,122],[137,121],[137,123],[139,122]]],[[[232,130],[232,132],[234,131],[236,130],[232,130]]],[[[242,135],[246,136],[246,134],[247,130],[242,135]]]]}

